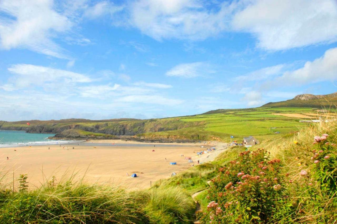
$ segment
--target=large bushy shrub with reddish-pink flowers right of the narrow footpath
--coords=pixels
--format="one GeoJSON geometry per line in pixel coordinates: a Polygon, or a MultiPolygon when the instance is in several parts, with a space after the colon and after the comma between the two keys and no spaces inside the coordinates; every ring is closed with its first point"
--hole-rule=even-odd
{"type": "Polygon", "coordinates": [[[240,153],[219,169],[208,192],[211,201],[201,223],[291,221],[293,204],[287,196],[279,159],[263,149],[240,153]]]}

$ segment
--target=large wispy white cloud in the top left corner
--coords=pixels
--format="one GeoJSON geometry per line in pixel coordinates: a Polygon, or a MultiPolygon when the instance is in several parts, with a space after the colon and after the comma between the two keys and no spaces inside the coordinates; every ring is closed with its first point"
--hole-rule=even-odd
{"type": "Polygon", "coordinates": [[[53,1],[0,1],[0,46],[29,50],[69,59],[65,50],[53,41],[55,34],[70,30],[72,22],[54,10],[53,1]]]}

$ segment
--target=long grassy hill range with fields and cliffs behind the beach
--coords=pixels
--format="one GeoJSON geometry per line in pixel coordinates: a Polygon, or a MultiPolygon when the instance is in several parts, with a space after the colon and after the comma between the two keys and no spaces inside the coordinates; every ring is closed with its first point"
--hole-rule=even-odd
{"type": "MultiPolygon", "coordinates": [[[[294,132],[308,124],[299,120],[318,119],[319,116],[336,117],[336,109],[321,111],[337,102],[337,94],[299,95],[292,100],[268,103],[249,109],[218,109],[204,114],[161,119],[111,119],[111,120],[31,120],[0,122],[0,129],[25,130],[30,133],[60,133],[58,137],[72,138],[68,130],[78,129],[90,133],[113,136],[133,136],[135,140],[184,142],[225,141],[230,136],[241,141],[253,135],[260,140],[275,138],[294,132]],[[316,108],[316,109],[313,109],[316,108]],[[27,125],[27,122],[30,125],[27,125]]],[[[336,107],[333,107],[336,108],[336,107]]],[[[91,134],[93,136],[93,134],[91,134]]],[[[90,137],[88,135],[88,137],[90,137]]],[[[102,137],[102,136],[101,136],[102,137]]]]}

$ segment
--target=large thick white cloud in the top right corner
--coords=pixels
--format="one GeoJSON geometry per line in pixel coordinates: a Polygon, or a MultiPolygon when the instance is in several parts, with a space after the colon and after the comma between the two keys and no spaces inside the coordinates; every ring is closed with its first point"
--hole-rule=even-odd
{"type": "Polygon", "coordinates": [[[252,0],[233,19],[234,29],[254,34],[267,50],[336,41],[336,27],[335,0],[252,0]]]}

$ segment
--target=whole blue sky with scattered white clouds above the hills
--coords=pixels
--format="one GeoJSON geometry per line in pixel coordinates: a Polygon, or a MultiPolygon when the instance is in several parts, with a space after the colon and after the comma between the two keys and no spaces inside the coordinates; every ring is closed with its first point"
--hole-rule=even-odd
{"type": "Polygon", "coordinates": [[[336,91],[336,0],[0,0],[0,120],[162,118],[336,91]]]}

